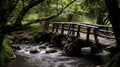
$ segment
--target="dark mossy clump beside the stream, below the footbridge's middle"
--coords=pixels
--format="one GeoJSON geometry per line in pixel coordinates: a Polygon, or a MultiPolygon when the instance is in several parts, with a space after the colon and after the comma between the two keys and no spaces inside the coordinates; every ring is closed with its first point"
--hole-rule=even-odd
{"type": "Polygon", "coordinates": [[[77,38],[68,38],[64,46],[63,53],[68,56],[81,56],[81,47],[84,45],[84,40],[77,38]]]}

